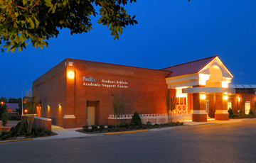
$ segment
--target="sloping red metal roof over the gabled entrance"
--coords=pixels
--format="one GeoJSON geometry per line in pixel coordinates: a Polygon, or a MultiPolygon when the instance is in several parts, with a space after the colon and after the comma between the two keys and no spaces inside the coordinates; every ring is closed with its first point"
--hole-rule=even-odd
{"type": "Polygon", "coordinates": [[[215,57],[218,57],[218,55],[215,55],[213,57],[206,57],[206,58],[201,59],[201,60],[195,60],[195,61],[192,61],[192,62],[178,64],[178,65],[172,66],[172,67],[166,67],[166,68],[161,69],[161,70],[171,72],[170,74],[168,74],[166,76],[166,78],[168,78],[168,77],[177,77],[177,76],[181,76],[181,75],[184,75],[184,74],[193,74],[193,73],[197,73],[201,69],[203,69],[203,67],[205,67],[215,57]]]}

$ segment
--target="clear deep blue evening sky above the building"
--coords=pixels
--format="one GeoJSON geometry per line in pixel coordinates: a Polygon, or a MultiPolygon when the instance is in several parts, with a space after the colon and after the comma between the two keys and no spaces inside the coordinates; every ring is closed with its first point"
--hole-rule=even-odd
{"type": "Polygon", "coordinates": [[[256,1],[139,1],[127,6],[138,25],[113,40],[92,17],[90,33],[60,30],[41,50],[28,45],[1,57],[0,96],[21,97],[32,82],[65,58],[161,69],[218,55],[232,84],[256,84],[256,1]]]}

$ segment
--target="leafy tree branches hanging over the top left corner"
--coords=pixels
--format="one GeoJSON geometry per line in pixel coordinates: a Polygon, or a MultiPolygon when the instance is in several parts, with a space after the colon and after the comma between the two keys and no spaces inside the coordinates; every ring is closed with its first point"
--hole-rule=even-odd
{"type": "MultiPolygon", "coordinates": [[[[128,0],[130,3],[137,0],[128,0]]],[[[57,38],[59,30],[87,33],[92,29],[91,18],[100,14],[97,23],[110,28],[114,39],[119,39],[122,29],[137,24],[135,16],[127,14],[127,0],[0,0],[0,45],[7,52],[16,48],[48,47],[46,40],[57,38]],[[98,13],[96,8],[99,8],[98,13]]]]}

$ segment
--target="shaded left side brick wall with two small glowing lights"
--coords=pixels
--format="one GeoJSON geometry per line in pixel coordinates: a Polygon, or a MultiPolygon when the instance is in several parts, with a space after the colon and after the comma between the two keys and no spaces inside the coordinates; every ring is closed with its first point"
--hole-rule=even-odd
{"type": "Polygon", "coordinates": [[[38,91],[41,100],[41,117],[51,118],[53,125],[61,127],[66,109],[66,77],[65,61],[63,61],[33,81],[33,88],[38,91]]]}

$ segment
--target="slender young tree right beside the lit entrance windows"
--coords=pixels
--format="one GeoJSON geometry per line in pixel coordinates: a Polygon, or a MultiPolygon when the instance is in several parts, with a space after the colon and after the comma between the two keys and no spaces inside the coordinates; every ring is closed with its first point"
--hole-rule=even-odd
{"type": "Polygon", "coordinates": [[[175,94],[171,93],[170,89],[168,89],[166,92],[166,112],[167,112],[169,123],[171,123],[171,121],[173,120],[172,116],[174,113],[175,105],[176,105],[175,94]]]}

